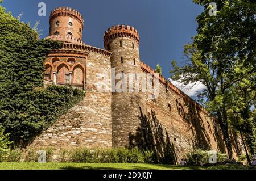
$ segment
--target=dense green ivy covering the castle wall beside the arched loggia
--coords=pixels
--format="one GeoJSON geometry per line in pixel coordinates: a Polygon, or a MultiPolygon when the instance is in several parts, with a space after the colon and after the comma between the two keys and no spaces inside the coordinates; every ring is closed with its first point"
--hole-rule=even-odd
{"type": "Polygon", "coordinates": [[[44,59],[58,48],[0,6],[0,126],[15,146],[26,146],[84,96],[72,87],[42,87],[44,59]]]}

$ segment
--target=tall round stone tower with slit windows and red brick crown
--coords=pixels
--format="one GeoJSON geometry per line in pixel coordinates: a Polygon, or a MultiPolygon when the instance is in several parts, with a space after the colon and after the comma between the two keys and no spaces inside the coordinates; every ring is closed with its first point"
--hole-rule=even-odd
{"type": "Polygon", "coordinates": [[[141,125],[139,115],[142,95],[130,78],[135,82],[141,73],[139,34],[134,27],[128,25],[113,26],[104,33],[104,47],[112,53],[113,146],[136,146],[140,141],[137,136],[138,127],[141,125]],[[125,81],[122,82],[122,78],[125,81]],[[120,82],[122,86],[118,86],[120,82]],[[118,87],[122,89],[117,90],[118,87]]]}

